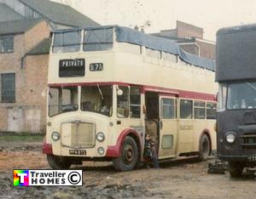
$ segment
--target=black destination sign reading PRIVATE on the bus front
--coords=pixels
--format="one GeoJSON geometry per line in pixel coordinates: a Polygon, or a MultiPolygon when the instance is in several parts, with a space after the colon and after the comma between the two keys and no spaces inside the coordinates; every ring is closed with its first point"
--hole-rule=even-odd
{"type": "Polygon", "coordinates": [[[60,60],[59,76],[60,77],[84,77],[84,59],[60,60]]]}

